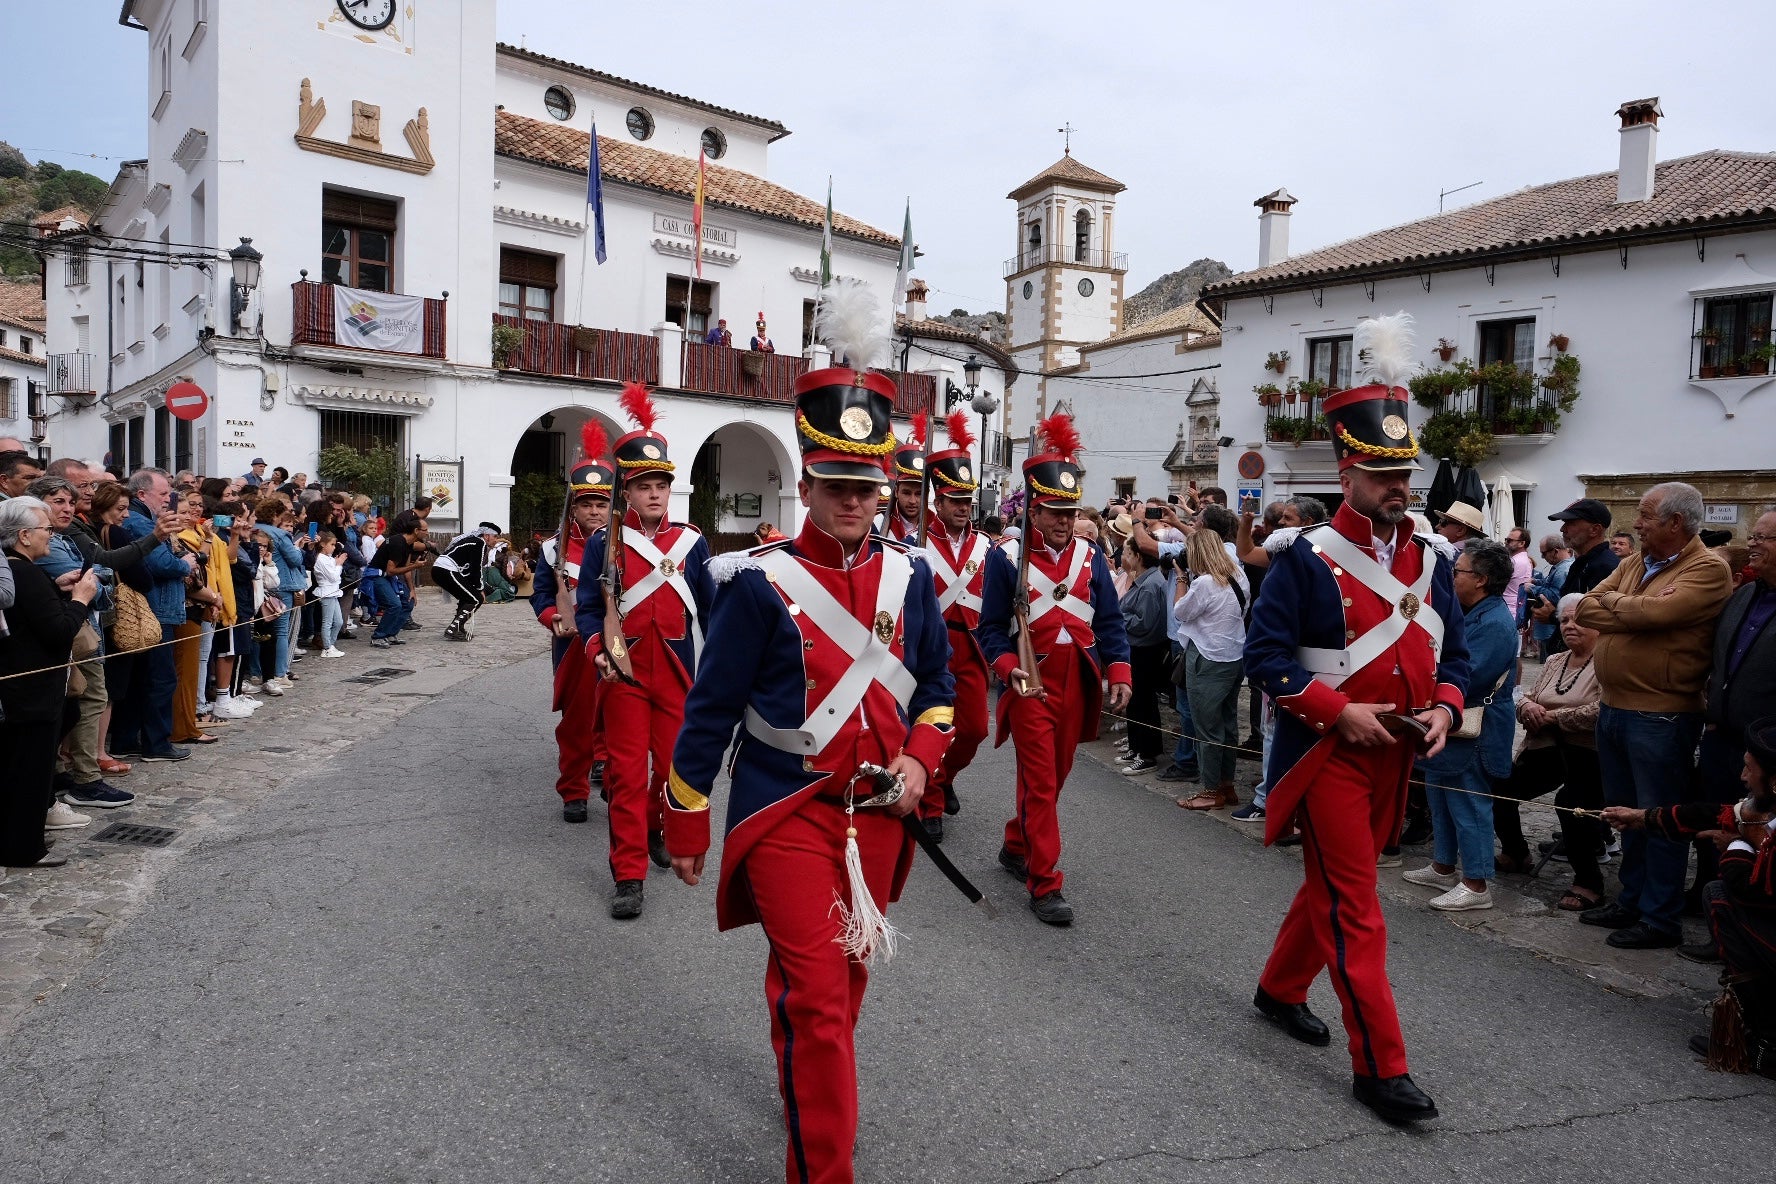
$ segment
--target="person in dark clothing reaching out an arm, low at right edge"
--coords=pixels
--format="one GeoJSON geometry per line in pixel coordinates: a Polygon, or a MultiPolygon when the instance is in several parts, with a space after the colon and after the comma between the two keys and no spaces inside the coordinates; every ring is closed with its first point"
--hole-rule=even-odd
{"type": "Polygon", "coordinates": [[[1716,1008],[1737,1006],[1744,1031],[1732,1031],[1717,1014],[1712,1046],[1696,1035],[1689,1047],[1710,1063],[1776,1077],[1776,719],[1746,728],[1739,779],[1746,797],[1732,806],[1611,806],[1604,822],[1618,831],[1645,827],[1675,843],[1705,838],[1721,850],[1721,879],[1703,889],[1709,932],[1726,962],[1721,982],[1728,994],[1716,1008]]]}

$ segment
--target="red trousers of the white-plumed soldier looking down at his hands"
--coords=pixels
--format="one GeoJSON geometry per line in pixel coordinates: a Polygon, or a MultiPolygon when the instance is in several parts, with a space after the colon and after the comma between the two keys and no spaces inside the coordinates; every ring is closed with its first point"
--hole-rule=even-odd
{"type": "Polygon", "coordinates": [[[1282,1003],[1305,1003],[1309,983],[1321,969],[1330,971],[1344,1010],[1352,1070],[1360,1077],[1407,1072],[1407,1044],[1387,982],[1387,923],[1375,891],[1375,859],[1398,834],[1410,762],[1405,744],[1337,744],[1307,786],[1298,811],[1307,879],[1257,980],[1282,1003]]]}

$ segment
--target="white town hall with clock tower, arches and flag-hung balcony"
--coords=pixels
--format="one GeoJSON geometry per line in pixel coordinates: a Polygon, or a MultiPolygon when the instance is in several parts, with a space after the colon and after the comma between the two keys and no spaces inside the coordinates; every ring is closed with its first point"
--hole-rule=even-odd
{"type": "MultiPolygon", "coordinates": [[[[828,359],[806,341],[824,202],[765,179],[787,128],[497,46],[494,0],[387,7],[366,28],[337,0],[124,5],[151,55],[149,154],[87,233],[43,240],[52,353],[91,375],[52,398],[48,446],[224,476],[389,446],[460,463],[446,529],[506,524],[515,476],[559,476],[588,417],[627,430],[616,396],[639,380],[675,517],[696,474],[719,533],[794,527],[792,387],[828,359]],[[240,298],[226,252],[243,238],[263,261],[240,298]],[[760,316],[774,353],[746,348],[760,316]],[[705,344],[719,320],[733,348],[705,344]],[[211,399],[192,424],[165,408],[179,380],[211,399]]],[[[881,291],[884,332],[897,257],[897,238],[835,218],[833,270],[881,291]]],[[[950,364],[915,350],[897,410],[929,405],[950,364]]]]}

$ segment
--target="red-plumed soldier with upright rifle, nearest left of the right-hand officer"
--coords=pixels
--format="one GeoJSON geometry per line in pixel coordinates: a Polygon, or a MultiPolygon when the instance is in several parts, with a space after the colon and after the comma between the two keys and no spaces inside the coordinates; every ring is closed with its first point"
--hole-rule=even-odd
{"type": "Polygon", "coordinates": [[[1000,694],[995,746],[1007,735],[1018,746],[1018,813],[1005,824],[1000,864],[1030,889],[1030,909],[1039,920],[1071,925],[1073,905],[1060,895],[1057,866],[1057,804],[1080,740],[1098,738],[1105,678],[1110,710],[1128,705],[1128,634],[1110,564],[1096,547],[1073,538],[1085,474],[1076,460],[1080,435],[1067,415],[1050,415],[1039,430],[1048,451],[1023,462],[1028,538],[995,547],[987,556],[975,635],[993,673],[1009,687],[1000,694]],[[1019,549],[1028,549],[1025,570],[1019,549]],[[1019,600],[1028,604],[1027,625],[1016,616],[1019,600]],[[1018,660],[1019,628],[1030,630],[1034,673],[1041,676],[1041,691],[1034,694],[1025,694],[1032,671],[1018,660]]]}

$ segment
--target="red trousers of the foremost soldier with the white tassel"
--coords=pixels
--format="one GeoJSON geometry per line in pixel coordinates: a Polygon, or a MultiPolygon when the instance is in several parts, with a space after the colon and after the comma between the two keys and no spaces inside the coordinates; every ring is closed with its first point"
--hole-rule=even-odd
{"type": "MultiPolygon", "coordinates": [[[[876,907],[888,907],[893,870],[908,841],[899,818],[854,815],[863,879],[876,907]]],[[[868,969],[835,937],[835,900],[851,902],[845,877],[845,808],[810,797],[746,854],[744,875],[771,943],[765,1006],[778,1058],[778,1092],[790,1184],[851,1184],[858,1140],[858,1058],[852,1030],[868,969]]]]}

